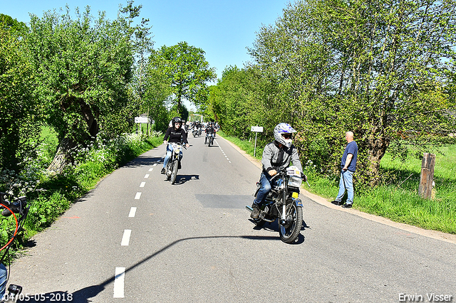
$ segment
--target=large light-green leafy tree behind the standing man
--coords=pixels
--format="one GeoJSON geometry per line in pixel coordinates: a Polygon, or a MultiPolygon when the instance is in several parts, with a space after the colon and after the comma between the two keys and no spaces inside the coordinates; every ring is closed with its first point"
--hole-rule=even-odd
{"type": "Polygon", "coordinates": [[[280,87],[275,97],[302,148],[311,152],[316,138],[336,167],[343,133],[353,130],[358,177],[378,184],[391,142],[455,129],[455,9],[453,0],[298,1],[261,28],[250,53],[280,87]]]}

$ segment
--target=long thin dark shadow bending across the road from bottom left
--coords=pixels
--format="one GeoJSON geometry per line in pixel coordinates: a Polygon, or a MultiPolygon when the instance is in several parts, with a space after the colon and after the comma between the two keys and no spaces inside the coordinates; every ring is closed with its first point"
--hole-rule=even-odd
{"type": "MultiPolygon", "coordinates": [[[[145,257],[144,259],[136,262],[135,265],[128,267],[125,269],[125,274],[129,272],[130,270],[135,269],[135,267],[138,267],[142,265],[143,263],[150,261],[153,257],[156,257],[157,255],[160,255],[162,252],[165,252],[166,250],[172,248],[172,246],[177,245],[178,243],[182,243],[185,241],[192,241],[192,240],[204,240],[204,239],[222,239],[222,238],[240,238],[240,239],[247,239],[247,240],[280,240],[280,238],[277,237],[269,237],[269,236],[253,236],[253,235],[214,235],[214,236],[208,236],[208,237],[190,237],[190,238],[183,238],[180,240],[175,240],[174,242],[170,243],[169,245],[166,245],[160,250],[157,250],[157,252],[154,252],[152,255],[145,257]]],[[[304,237],[303,237],[304,238],[304,237]]],[[[73,294],[68,293],[68,292],[63,292],[61,290],[57,290],[54,292],[46,292],[44,294],[39,294],[35,298],[33,295],[31,297],[28,297],[27,299],[21,299],[19,298],[15,302],[21,302],[21,303],[38,303],[38,302],[45,302],[45,303],[51,303],[51,302],[63,302],[63,298],[66,299],[67,302],[72,302],[72,303],[89,303],[93,302],[90,300],[90,298],[93,298],[97,296],[100,292],[103,292],[105,288],[113,283],[115,280],[115,277],[110,277],[110,279],[105,280],[101,282],[99,285],[92,285],[89,287],[85,287],[83,289],[79,289],[76,292],[73,292],[73,294]],[[68,297],[71,295],[70,297],[68,297]],[[59,299],[57,301],[57,299],[59,299]]],[[[24,294],[22,294],[24,296],[24,294]]]]}

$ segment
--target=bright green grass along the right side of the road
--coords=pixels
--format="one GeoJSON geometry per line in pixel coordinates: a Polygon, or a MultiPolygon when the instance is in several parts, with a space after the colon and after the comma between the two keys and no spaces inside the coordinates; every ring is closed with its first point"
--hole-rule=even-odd
{"type": "MultiPolygon", "coordinates": [[[[219,134],[253,156],[253,142],[219,134]]],[[[257,159],[261,159],[262,148],[257,147],[257,159]]],[[[456,233],[456,145],[440,147],[436,154],[432,199],[418,196],[421,159],[416,150],[410,148],[405,161],[393,159],[385,154],[380,166],[383,184],[363,192],[356,191],[354,208],[366,213],[390,218],[396,222],[415,225],[445,233],[456,233]]],[[[338,193],[338,176],[323,177],[314,171],[304,171],[309,177],[311,188],[306,189],[333,199],[338,193]]],[[[355,174],[356,178],[356,174],[355,174]]]]}

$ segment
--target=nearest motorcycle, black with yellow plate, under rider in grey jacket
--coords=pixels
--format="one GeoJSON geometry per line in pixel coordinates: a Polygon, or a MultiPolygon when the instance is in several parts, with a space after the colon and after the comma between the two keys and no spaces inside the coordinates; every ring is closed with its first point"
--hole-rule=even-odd
{"type": "MultiPolygon", "coordinates": [[[[298,196],[303,179],[306,180],[306,175],[302,174],[296,166],[279,169],[271,178],[271,191],[260,207],[259,217],[252,219],[257,226],[278,220],[280,240],[284,243],[293,243],[301,232],[303,210],[298,196]]],[[[260,188],[261,184],[257,182],[255,197],[260,188]]],[[[251,213],[254,211],[250,206],[246,208],[251,213]]]]}

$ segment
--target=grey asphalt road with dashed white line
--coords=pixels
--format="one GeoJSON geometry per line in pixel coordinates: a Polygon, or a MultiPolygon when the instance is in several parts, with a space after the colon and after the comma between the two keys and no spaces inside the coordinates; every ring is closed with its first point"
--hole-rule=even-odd
{"type": "Polygon", "coordinates": [[[244,208],[260,169],[224,139],[189,141],[177,184],[160,174],[162,145],[36,235],[11,265],[22,302],[455,302],[455,244],[301,195],[287,245],[244,208]]]}

